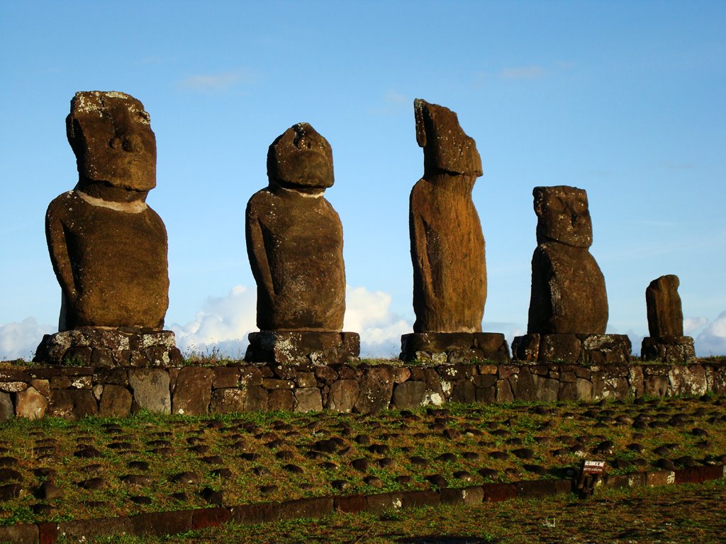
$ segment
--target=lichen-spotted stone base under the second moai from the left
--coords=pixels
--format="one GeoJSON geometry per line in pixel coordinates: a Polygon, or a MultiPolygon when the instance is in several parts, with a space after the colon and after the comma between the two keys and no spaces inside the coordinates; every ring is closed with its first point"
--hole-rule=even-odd
{"type": "Polygon", "coordinates": [[[361,352],[356,332],[259,331],[250,332],[249,339],[245,360],[250,363],[350,363],[361,352]]]}

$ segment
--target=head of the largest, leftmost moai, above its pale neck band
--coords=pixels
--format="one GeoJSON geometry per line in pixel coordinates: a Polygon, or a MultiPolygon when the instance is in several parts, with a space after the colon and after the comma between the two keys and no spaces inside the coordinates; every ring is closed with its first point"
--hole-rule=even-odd
{"type": "Polygon", "coordinates": [[[156,139],[139,100],[115,91],[78,92],[65,125],[79,189],[94,189],[94,197],[127,192],[131,196],[121,199],[136,199],[156,186],[156,139]]]}

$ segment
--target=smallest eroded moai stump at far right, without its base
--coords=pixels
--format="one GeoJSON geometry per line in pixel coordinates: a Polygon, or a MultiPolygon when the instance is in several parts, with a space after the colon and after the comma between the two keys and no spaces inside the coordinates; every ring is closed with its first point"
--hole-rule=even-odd
{"type": "Polygon", "coordinates": [[[669,274],[654,279],[645,289],[648,308],[648,331],[651,337],[682,337],[683,308],[678,276],[669,274]]]}

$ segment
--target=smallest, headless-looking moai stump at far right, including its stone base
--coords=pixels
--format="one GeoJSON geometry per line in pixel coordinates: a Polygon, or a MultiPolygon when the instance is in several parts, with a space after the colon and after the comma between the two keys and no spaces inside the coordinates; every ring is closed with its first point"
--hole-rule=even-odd
{"type": "Polygon", "coordinates": [[[645,289],[649,337],[643,339],[643,360],[686,363],[696,358],[693,338],[683,336],[683,310],[678,276],[668,274],[654,279],[645,289]]]}

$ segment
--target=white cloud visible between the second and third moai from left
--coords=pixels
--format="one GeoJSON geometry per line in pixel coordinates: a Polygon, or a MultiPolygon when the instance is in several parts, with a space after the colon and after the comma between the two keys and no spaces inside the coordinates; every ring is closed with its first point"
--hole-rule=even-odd
{"type": "Polygon", "coordinates": [[[396,358],[401,334],[412,332],[413,325],[391,312],[390,294],[348,286],[343,330],[360,334],[362,357],[396,358]]]}

